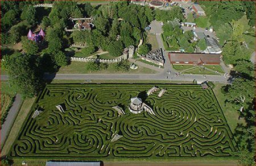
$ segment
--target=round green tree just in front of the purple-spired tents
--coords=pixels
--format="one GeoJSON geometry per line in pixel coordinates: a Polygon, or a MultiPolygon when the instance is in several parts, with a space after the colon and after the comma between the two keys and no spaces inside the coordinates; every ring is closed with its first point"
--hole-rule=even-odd
{"type": "Polygon", "coordinates": [[[22,36],[22,48],[27,55],[36,55],[38,53],[38,44],[36,42],[28,40],[27,36],[22,36]]]}

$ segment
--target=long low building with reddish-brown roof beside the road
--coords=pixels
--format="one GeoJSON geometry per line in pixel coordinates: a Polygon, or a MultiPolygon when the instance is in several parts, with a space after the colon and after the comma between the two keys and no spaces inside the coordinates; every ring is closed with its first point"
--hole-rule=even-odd
{"type": "Polygon", "coordinates": [[[210,53],[168,53],[171,64],[219,65],[220,56],[210,53]]]}

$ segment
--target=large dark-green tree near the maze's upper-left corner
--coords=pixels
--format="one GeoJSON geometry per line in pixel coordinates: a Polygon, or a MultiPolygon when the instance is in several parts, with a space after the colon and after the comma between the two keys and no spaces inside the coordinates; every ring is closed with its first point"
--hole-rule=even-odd
{"type": "Polygon", "coordinates": [[[41,88],[38,60],[34,56],[14,53],[6,65],[11,88],[23,97],[33,97],[41,88]]]}

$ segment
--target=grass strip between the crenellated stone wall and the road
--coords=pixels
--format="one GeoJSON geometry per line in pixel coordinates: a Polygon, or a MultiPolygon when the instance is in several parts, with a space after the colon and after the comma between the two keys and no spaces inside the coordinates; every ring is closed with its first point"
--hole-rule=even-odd
{"type": "Polygon", "coordinates": [[[156,72],[155,70],[144,68],[144,67],[138,67],[138,69],[136,70],[130,69],[128,72],[123,72],[123,71],[115,72],[113,68],[113,64],[109,64],[108,69],[105,69],[105,70],[102,69],[96,72],[90,72],[86,68],[86,63],[72,61],[70,65],[61,67],[58,73],[156,73],[156,72]]]}

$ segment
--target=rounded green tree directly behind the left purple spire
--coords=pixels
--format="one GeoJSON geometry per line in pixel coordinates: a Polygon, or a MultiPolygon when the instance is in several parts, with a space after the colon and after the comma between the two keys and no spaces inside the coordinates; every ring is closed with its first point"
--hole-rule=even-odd
{"type": "Polygon", "coordinates": [[[30,25],[36,24],[36,10],[32,5],[24,7],[20,15],[22,20],[27,20],[30,25]]]}

